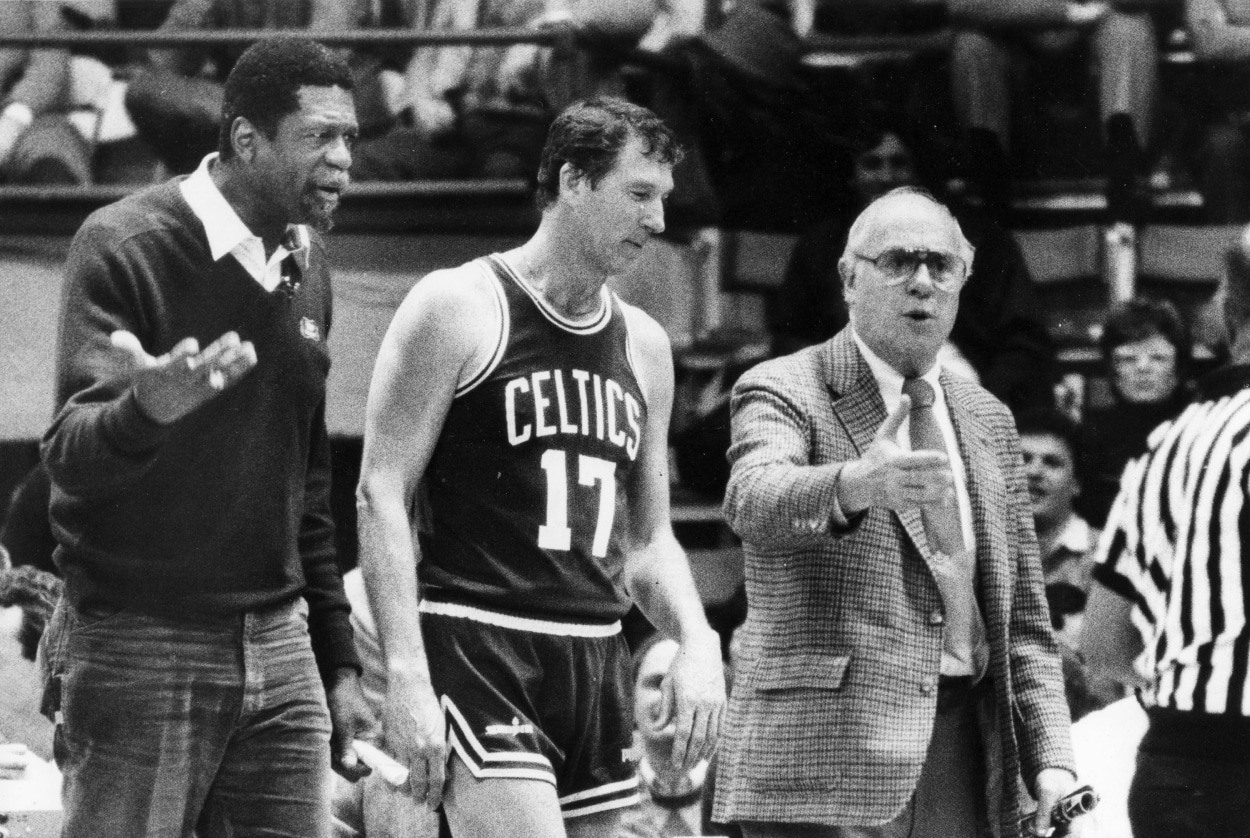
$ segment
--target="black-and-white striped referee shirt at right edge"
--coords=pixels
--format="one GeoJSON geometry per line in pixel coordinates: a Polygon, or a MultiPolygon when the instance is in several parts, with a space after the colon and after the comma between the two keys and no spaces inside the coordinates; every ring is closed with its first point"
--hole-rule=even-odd
{"type": "Polygon", "coordinates": [[[1250,366],[1234,366],[1151,433],[1099,543],[1095,577],[1132,602],[1148,704],[1250,715],[1248,493],[1250,366]]]}

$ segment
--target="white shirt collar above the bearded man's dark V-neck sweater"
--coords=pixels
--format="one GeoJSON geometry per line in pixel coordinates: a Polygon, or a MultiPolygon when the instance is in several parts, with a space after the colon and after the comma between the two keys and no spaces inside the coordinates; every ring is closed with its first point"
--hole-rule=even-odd
{"type": "Polygon", "coordinates": [[[216,163],[216,151],[204,158],[200,168],[181,183],[182,198],[204,224],[204,234],[209,239],[212,261],[219,261],[228,254],[232,255],[266,291],[272,291],[282,281],[282,260],[286,256],[294,256],[301,270],[308,269],[309,230],[302,224],[290,225],[282,244],[278,245],[269,259],[265,259],[265,243],[248,229],[230,201],[212,183],[209,168],[216,163]]]}

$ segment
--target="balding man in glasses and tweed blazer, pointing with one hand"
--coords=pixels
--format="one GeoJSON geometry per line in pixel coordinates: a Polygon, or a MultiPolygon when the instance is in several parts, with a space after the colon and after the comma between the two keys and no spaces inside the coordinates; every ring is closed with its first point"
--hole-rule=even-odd
{"type": "Polygon", "coordinates": [[[715,819],[749,838],[1015,838],[1025,790],[1045,834],[1075,785],[1019,438],[936,363],[971,260],[931,195],[886,194],[839,264],[850,326],[734,388],[715,819]]]}

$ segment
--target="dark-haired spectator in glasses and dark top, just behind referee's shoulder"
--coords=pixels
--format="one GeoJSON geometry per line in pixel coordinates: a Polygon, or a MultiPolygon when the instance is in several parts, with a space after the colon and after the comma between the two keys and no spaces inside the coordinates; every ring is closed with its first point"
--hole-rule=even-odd
{"type": "Polygon", "coordinates": [[[1190,358],[1189,329],[1166,300],[1122,304],[1104,324],[1100,344],[1112,401],[1086,411],[1079,447],[1079,505],[1095,527],[1106,522],[1125,464],[1146,450],[1151,430],[1188,403],[1190,358]]]}

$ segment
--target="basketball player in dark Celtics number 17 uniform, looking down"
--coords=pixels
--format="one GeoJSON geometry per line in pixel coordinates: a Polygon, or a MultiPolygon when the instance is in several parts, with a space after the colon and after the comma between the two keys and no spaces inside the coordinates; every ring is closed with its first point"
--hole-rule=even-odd
{"type": "Polygon", "coordinates": [[[418,283],[378,358],[359,509],[386,747],[455,835],[606,835],[638,802],[631,599],[680,643],[674,763],[715,744],[719,642],[669,519],[671,350],[605,286],[664,230],[679,155],[646,109],[571,105],[534,238],[418,283]]]}

